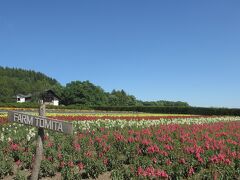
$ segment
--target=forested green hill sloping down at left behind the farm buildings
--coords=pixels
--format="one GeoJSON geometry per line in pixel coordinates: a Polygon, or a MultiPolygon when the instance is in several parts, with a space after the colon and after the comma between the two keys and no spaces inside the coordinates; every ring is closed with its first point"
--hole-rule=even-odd
{"type": "Polygon", "coordinates": [[[14,102],[17,94],[37,94],[46,89],[60,89],[60,83],[41,72],[0,66],[0,102],[14,102]]]}

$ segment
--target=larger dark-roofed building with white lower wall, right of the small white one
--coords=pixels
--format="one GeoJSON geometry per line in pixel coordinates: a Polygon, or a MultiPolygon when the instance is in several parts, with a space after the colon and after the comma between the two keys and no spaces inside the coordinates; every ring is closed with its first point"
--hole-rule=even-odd
{"type": "Polygon", "coordinates": [[[48,105],[58,106],[60,98],[55,94],[54,91],[47,90],[41,94],[41,100],[48,105]]]}

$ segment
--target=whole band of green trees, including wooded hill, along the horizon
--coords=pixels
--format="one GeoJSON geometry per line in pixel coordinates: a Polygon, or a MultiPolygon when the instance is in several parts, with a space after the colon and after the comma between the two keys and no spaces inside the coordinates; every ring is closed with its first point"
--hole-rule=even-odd
{"type": "Polygon", "coordinates": [[[15,102],[17,94],[32,94],[37,101],[41,92],[52,89],[63,105],[80,106],[168,106],[188,107],[186,102],[141,101],[124,90],[104,91],[89,81],[72,81],[62,86],[56,79],[41,72],[0,67],[0,102],[15,102]]]}

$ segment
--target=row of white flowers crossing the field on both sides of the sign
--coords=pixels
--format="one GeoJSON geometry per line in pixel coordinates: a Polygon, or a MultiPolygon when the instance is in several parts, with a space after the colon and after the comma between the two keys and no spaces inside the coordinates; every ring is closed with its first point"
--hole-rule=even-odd
{"type": "MultiPolygon", "coordinates": [[[[173,119],[158,119],[158,120],[111,120],[99,119],[96,121],[73,121],[74,131],[94,130],[101,127],[104,128],[146,128],[150,126],[158,126],[161,124],[203,124],[214,122],[240,121],[240,117],[201,117],[201,118],[173,118],[173,119]]],[[[27,139],[30,141],[36,136],[37,129],[22,124],[5,124],[0,126],[0,141],[7,142],[15,139],[27,139]]]]}

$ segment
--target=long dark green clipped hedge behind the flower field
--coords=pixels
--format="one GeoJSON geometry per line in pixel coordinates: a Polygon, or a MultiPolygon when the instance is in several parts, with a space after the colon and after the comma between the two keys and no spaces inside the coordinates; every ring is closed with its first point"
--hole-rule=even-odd
{"type": "Polygon", "coordinates": [[[240,109],[204,108],[204,107],[94,107],[95,110],[104,111],[137,111],[146,113],[164,114],[195,114],[195,115],[229,115],[240,116],[240,109]]]}

